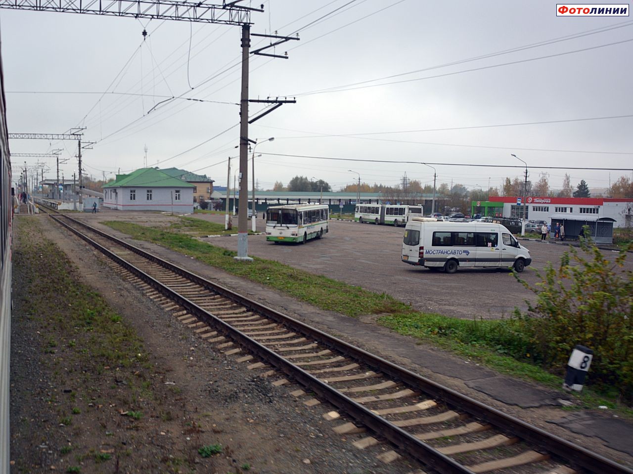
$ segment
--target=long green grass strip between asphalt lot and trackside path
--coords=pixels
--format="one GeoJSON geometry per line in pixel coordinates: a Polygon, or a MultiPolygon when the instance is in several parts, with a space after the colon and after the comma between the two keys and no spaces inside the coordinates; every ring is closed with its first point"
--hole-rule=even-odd
{"type": "MultiPolygon", "coordinates": [[[[517,329],[516,320],[461,320],[449,316],[414,311],[410,305],[382,293],[377,294],[353,286],[298,270],[277,261],[254,257],[252,263],[235,261],[235,252],[211,246],[189,235],[169,230],[143,227],[134,223],[109,221],[106,225],[148,240],[174,251],[192,256],[208,265],[246,280],[267,285],[317,308],[342,315],[380,315],[378,323],[399,334],[430,342],[436,346],[475,359],[501,373],[525,380],[534,380],[561,390],[561,374],[549,373],[535,364],[532,354],[525,350],[527,341],[517,329]]],[[[596,403],[615,397],[603,396],[586,389],[579,396],[582,404],[595,408],[596,403]]],[[[621,413],[633,415],[623,408],[621,413]]]]}

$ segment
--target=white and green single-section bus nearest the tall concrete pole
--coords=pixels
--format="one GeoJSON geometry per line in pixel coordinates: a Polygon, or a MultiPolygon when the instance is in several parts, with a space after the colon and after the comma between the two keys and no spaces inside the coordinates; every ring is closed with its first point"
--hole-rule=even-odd
{"type": "Polygon", "coordinates": [[[329,232],[327,204],[272,206],[266,211],[266,240],[301,242],[320,239],[329,232]]]}

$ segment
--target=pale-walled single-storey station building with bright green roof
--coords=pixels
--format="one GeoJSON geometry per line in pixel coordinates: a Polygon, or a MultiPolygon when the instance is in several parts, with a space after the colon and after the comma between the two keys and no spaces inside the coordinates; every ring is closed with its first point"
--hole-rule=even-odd
{"type": "Polygon", "coordinates": [[[156,168],[141,168],[103,186],[104,208],[120,211],[194,211],[195,186],[156,168]]]}

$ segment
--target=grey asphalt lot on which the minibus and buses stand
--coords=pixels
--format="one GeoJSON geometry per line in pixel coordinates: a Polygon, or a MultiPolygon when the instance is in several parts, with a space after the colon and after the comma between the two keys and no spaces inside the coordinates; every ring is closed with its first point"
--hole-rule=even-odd
{"type": "MultiPolygon", "coordinates": [[[[196,217],[224,222],[223,216],[218,215],[196,217]]],[[[237,224],[237,218],[234,223],[237,224]]],[[[258,221],[257,227],[263,230],[263,222],[258,221]]],[[[403,232],[401,227],[330,221],[326,237],[310,240],[305,245],[275,244],[266,242],[265,235],[251,236],[248,254],[281,261],[374,292],[386,292],[410,302],[420,311],[458,318],[508,317],[515,307],[527,308],[525,299],[534,301],[534,294],[520,285],[509,270],[472,268],[448,275],[403,263],[403,232]]],[[[237,250],[237,237],[205,240],[237,250]]],[[[568,248],[553,242],[522,241],[522,244],[530,250],[533,259],[532,265],[521,274],[530,284],[539,281],[536,269],[541,270],[548,261],[557,263],[568,248]]],[[[605,255],[612,260],[617,253],[605,251],[605,255]]],[[[631,259],[627,259],[627,270],[633,270],[631,259]]]]}

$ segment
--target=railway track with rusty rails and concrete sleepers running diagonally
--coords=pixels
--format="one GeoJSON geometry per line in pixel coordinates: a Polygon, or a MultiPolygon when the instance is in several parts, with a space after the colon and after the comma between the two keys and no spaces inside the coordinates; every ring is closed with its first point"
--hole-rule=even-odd
{"type": "Polygon", "coordinates": [[[391,444],[379,456],[385,463],[404,454],[442,474],[633,474],[70,216],[51,216],[201,339],[273,385],[302,385],[292,395],[306,406],[332,404],[324,417],[336,433],[356,435],[358,449],[391,444]]]}

